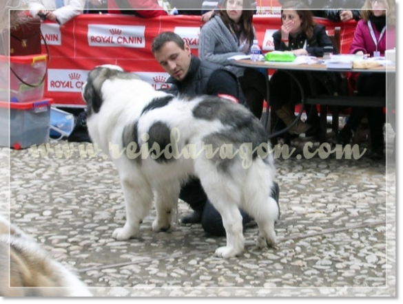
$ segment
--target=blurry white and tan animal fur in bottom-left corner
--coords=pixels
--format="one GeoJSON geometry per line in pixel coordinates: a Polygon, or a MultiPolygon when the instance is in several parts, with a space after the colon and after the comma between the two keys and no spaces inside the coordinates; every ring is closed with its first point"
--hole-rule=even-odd
{"type": "Polygon", "coordinates": [[[0,215],[0,296],[92,294],[70,270],[0,215]]]}

